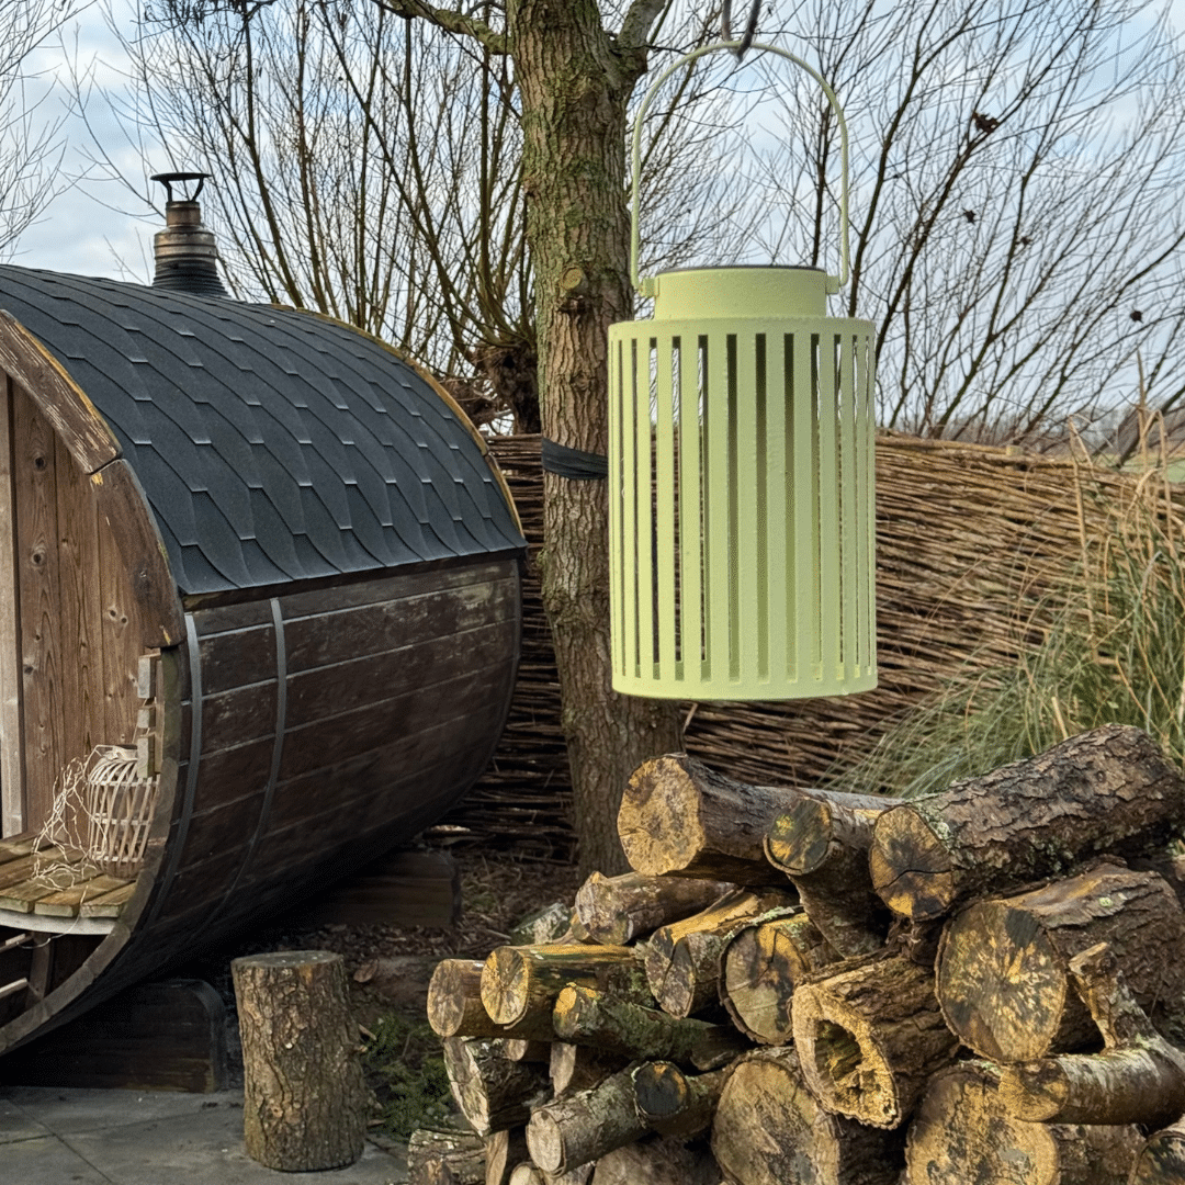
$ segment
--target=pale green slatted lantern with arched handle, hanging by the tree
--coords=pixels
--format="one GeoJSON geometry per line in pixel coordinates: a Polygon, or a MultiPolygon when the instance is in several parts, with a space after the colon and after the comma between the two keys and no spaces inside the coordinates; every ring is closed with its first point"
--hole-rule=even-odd
{"type": "Polygon", "coordinates": [[[876,686],[872,325],[826,315],[839,275],[724,267],[639,281],[648,321],[609,329],[613,686],[632,696],[798,699],[876,686]]]}

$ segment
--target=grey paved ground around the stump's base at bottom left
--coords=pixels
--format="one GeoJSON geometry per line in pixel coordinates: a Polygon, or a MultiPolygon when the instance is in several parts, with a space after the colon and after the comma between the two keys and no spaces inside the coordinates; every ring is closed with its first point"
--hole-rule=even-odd
{"type": "Polygon", "coordinates": [[[281,1173],[243,1147],[243,1095],[0,1085],[5,1185],[402,1185],[406,1160],[366,1145],[348,1168],[281,1173]]]}

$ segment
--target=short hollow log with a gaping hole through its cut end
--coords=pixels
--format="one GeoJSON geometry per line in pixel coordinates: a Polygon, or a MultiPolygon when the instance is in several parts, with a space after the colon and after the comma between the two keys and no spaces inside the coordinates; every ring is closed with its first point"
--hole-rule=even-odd
{"type": "Polygon", "coordinates": [[[828,1110],[897,1127],[959,1043],[942,1021],[925,968],[903,955],[840,966],[794,992],[802,1075],[828,1110]]]}

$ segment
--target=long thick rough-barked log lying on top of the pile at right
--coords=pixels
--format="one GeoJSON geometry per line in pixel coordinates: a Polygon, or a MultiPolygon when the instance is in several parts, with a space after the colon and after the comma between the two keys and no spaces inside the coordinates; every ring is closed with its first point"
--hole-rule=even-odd
{"type": "Polygon", "coordinates": [[[1185,819],[1185,779],[1139,729],[1109,724],[877,819],[872,884],[915,921],[1063,872],[1102,852],[1159,850],[1185,819]]]}

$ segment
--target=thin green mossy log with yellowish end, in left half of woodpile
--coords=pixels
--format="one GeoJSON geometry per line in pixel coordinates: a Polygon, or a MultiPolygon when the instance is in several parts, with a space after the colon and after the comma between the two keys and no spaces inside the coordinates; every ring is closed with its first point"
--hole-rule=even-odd
{"type": "Polygon", "coordinates": [[[745,1048],[726,1025],[679,1019],[575,984],[559,993],[552,1023],[566,1042],[626,1058],[670,1058],[700,1070],[724,1065],[745,1048]]]}

